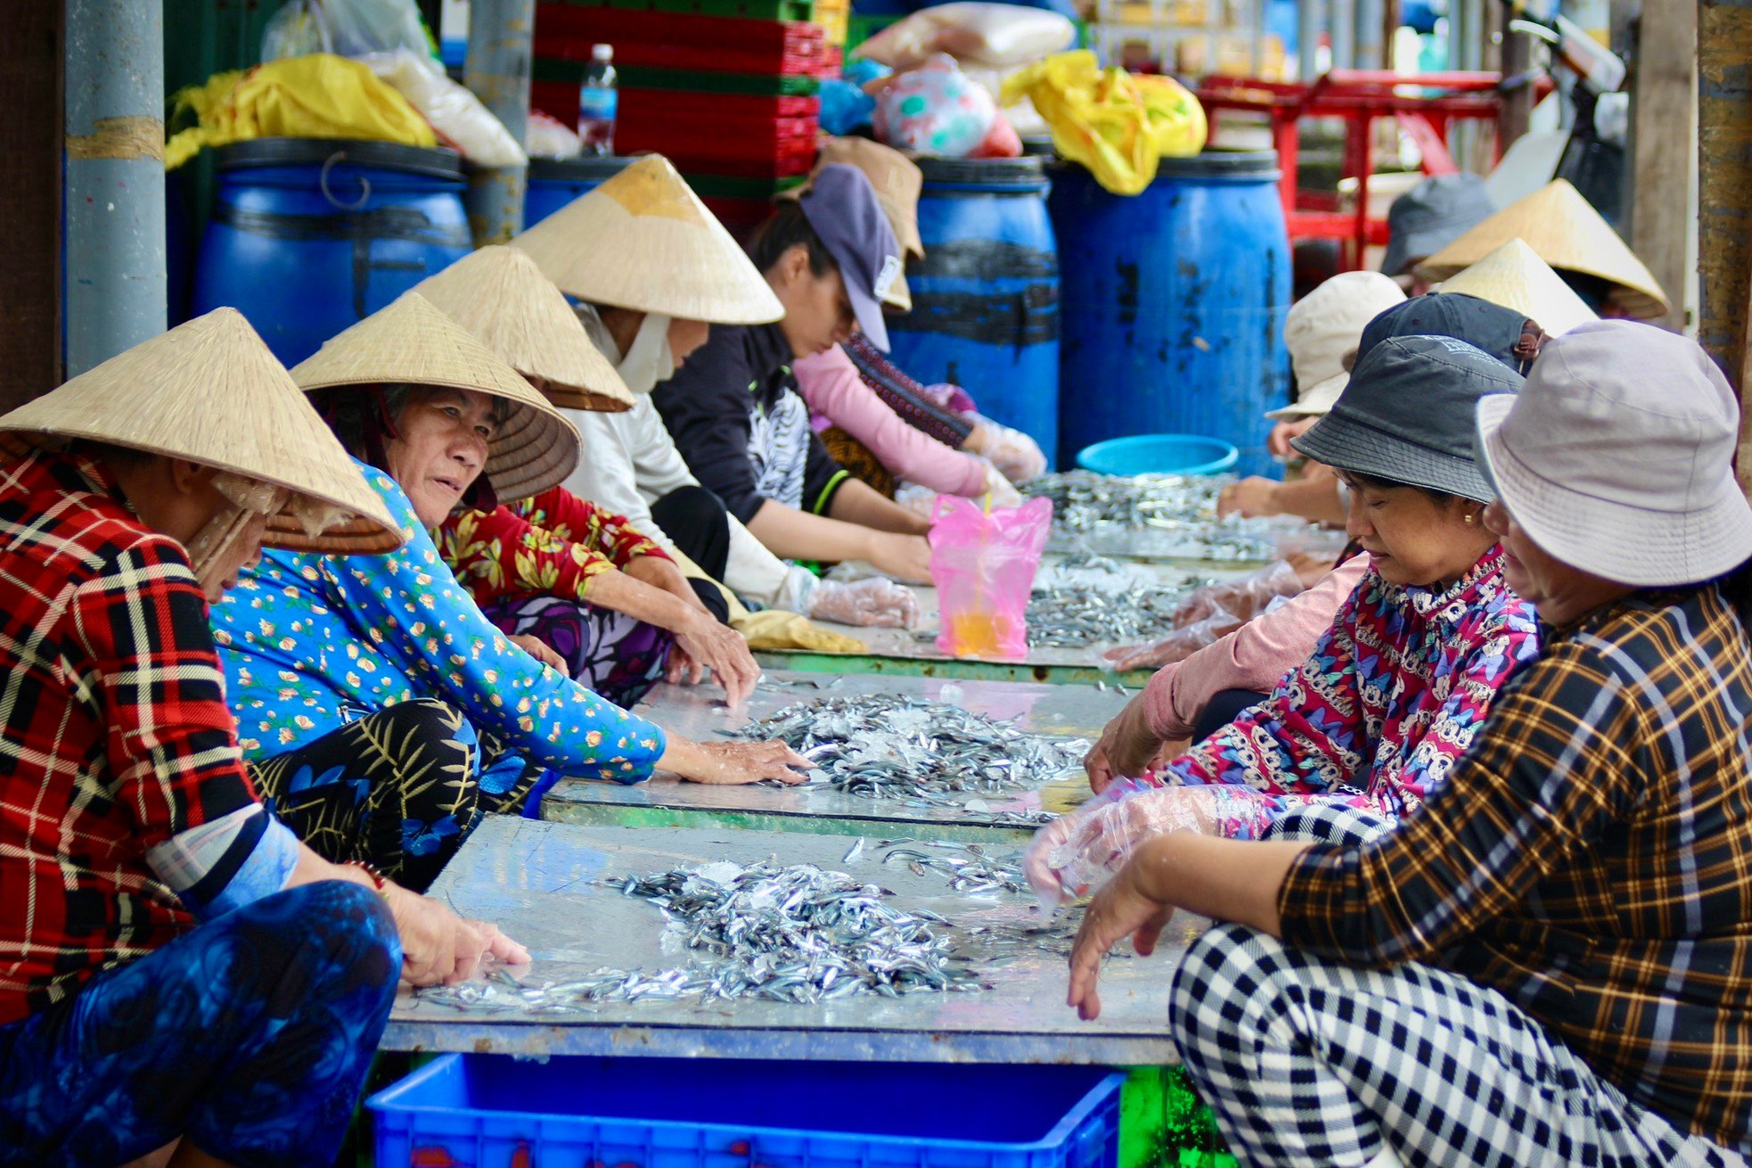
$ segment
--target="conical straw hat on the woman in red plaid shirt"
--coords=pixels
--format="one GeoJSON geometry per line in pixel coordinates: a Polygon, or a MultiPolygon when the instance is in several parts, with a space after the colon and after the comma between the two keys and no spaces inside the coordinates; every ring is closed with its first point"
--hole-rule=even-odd
{"type": "Polygon", "coordinates": [[[186,458],[293,491],[265,542],[310,538],[300,517],[342,512],[317,537],[342,552],[403,535],[305,395],[237,309],[214,309],[0,417],[7,447],[68,438],[186,458]],[[294,538],[275,538],[275,531],[294,538]]]}

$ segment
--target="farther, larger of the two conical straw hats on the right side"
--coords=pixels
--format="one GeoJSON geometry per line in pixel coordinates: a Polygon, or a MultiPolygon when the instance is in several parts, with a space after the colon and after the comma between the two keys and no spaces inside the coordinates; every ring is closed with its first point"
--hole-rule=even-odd
{"type": "Polygon", "coordinates": [[[1661,284],[1636,253],[1624,246],[1612,224],[1563,179],[1503,207],[1419,263],[1417,275],[1426,281],[1445,281],[1512,239],[1526,240],[1533,253],[1554,268],[1584,272],[1617,284],[1615,296],[1631,316],[1642,319],[1666,316],[1668,303],[1661,284]]]}

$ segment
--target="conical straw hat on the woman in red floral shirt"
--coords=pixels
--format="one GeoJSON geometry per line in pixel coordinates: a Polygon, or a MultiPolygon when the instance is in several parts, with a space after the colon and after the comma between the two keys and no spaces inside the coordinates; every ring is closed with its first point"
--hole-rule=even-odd
{"type": "Polygon", "coordinates": [[[618,414],[632,391],[590,344],[566,295],[515,247],[482,247],[413,291],[475,333],[554,405],[618,414]]]}

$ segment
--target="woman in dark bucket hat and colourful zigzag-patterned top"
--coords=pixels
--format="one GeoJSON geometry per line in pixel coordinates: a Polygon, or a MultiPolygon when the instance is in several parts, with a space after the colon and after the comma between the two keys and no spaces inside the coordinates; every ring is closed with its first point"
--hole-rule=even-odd
{"type": "MultiPolygon", "coordinates": [[[[1472,454],[1477,400],[1519,388],[1517,374],[1447,337],[1393,338],[1358,361],[1296,447],[1351,486],[1349,533],[1370,554],[1361,584],[1265,702],[1174,759],[1163,786],[1042,828],[1032,870],[1044,879],[1069,865],[1083,886],[1156,831],[1256,838],[1309,803],[1386,819],[1417,807],[1537,652],[1533,610],[1480,523],[1493,491],[1472,454]]],[[[1090,754],[1091,779],[1109,740],[1135,735],[1128,719],[1090,754]]],[[[1130,742],[1121,752],[1137,754],[1130,742]]]]}

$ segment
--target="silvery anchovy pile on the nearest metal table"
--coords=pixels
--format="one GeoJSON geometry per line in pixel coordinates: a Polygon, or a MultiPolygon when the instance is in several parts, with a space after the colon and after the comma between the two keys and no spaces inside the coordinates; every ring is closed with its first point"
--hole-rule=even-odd
{"type": "Polygon", "coordinates": [[[662,908],[687,966],[655,973],[601,968],[569,982],[484,982],[424,989],[420,1001],[464,1010],[571,1014],[606,1001],[743,998],[816,1003],[851,994],[985,989],[971,959],[927,910],[901,912],[874,884],[815,865],[727,861],[699,870],[599,880],[662,908]]]}

